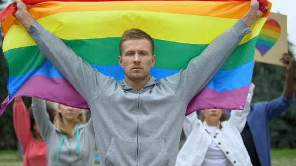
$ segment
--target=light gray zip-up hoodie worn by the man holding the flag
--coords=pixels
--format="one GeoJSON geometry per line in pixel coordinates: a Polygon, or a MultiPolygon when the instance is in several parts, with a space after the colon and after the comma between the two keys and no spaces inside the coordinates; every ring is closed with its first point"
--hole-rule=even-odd
{"type": "MultiPolygon", "coordinates": [[[[187,68],[140,90],[99,73],[38,22],[28,29],[42,54],[86,100],[101,166],[175,166],[188,102],[213,78],[251,30],[240,19],[187,68]]],[[[185,55],[180,55],[185,56],[185,55]]]]}

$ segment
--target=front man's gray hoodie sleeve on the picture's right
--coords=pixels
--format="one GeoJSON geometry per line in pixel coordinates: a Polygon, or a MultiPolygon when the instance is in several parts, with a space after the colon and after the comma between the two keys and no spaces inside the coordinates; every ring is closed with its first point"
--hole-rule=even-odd
{"type": "Polygon", "coordinates": [[[247,24],[239,19],[214,39],[199,56],[193,58],[187,68],[164,80],[175,94],[188,104],[212,80],[242,38],[250,32],[247,24]]]}

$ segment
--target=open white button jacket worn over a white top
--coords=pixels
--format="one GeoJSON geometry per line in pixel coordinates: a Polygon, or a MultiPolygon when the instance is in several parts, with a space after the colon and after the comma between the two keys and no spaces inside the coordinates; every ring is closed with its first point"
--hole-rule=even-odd
{"type": "Polygon", "coordinates": [[[222,130],[217,129],[215,138],[206,132],[207,123],[199,120],[196,113],[186,116],[183,130],[187,139],[178,154],[176,166],[202,166],[212,140],[232,163],[230,166],[252,166],[240,133],[245,127],[251,109],[254,88],[255,85],[252,83],[244,110],[231,111],[230,118],[221,123],[222,130]]]}

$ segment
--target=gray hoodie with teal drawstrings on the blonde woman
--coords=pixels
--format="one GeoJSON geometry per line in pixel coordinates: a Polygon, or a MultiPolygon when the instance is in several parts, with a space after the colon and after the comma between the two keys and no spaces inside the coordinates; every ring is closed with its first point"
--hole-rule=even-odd
{"type": "Polygon", "coordinates": [[[32,98],[32,111],[47,146],[47,166],[94,166],[95,134],[92,119],[76,125],[72,138],[49,121],[44,100],[32,98]]]}

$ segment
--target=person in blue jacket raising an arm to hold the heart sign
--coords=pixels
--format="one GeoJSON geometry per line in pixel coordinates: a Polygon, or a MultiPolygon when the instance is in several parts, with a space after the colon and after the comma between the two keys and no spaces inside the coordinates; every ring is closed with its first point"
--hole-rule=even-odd
{"type": "Polygon", "coordinates": [[[287,110],[294,101],[293,58],[282,55],[286,65],[286,83],[281,97],[251,104],[251,111],[241,135],[253,166],[271,166],[268,122],[287,110]]]}

